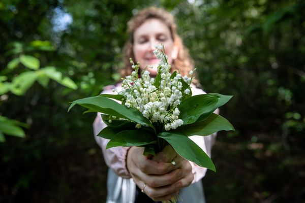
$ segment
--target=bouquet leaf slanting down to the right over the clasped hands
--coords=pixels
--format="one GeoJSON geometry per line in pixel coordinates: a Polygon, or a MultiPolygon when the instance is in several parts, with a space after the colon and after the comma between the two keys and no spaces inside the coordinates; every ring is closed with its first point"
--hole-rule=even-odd
{"type": "Polygon", "coordinates": [[[162,132],[158,137],[166,140],[181,157],[216,172],[215,165],[208,155],[184,134],[162,132]]]}

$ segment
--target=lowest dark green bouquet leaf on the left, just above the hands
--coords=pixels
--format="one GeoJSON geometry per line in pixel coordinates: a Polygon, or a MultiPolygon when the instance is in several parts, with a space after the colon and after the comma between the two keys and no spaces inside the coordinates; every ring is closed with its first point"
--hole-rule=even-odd
{"type": "Polygon", "coordinates": [[[157,138],[148,133],[145,130],[125,130],[115,134],[113,138],[109,141],[106,149],[111,147],[133,147],[133,146],[144,146],[149,144],[157,143],[157,138]]]}

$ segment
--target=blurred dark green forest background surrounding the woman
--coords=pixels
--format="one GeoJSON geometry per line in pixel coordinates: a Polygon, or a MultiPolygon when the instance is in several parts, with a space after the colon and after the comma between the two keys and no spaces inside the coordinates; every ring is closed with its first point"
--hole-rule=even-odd
{"type": "Polygon", "coordinates": [[[95,114],[67,109],[118,80],[126,23],[147,6],[175,15],[204,90],[234,95],[207,202],[304,202],[302,0],[2,0],[0,201],[105,202],[95,114]]]}

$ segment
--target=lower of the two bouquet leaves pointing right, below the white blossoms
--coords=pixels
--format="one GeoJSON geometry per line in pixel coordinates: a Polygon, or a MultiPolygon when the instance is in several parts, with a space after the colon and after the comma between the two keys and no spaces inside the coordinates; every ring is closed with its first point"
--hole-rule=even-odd
{"type": "Polygon", "coordinates": [[[188,125],[182,125],[173,132],[180,132],[186,136],[208,136],[220,130],[235,130],[232,124],[224,117],[212,113],[207,119],[188,125]]]}

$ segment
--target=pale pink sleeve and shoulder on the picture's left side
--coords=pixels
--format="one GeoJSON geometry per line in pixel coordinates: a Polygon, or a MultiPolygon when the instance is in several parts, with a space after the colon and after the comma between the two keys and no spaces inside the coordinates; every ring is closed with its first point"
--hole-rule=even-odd
{"type": "MultiPolygon", "coordinates": [[[[112,91],[105,90],[102,93],[112,94],[112,91]]],[[[126,156],[129,147],[113,147],[106,150],[106,146],[109,140],[97,136],[97,134],[106,127],[106,124],[101,118],[101,114],[98,113],[94,123],[94,135],[97,144],[102,148],[104,160],[108,167],[110,167],[118,176],[123,178],[131,178],[126,168],[126,156]]]]}

